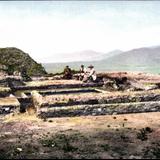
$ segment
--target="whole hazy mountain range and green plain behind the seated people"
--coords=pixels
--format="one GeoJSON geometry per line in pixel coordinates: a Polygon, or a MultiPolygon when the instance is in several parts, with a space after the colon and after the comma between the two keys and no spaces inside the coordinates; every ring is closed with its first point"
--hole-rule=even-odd
{"type": "Polygon", "coordinates": [[[160,70],[160,46],[136,48],[126,52],[120,50],[114,50],[109,53],[83,51],[78,52],[77,55],[81,55],[79,61],[44,63],[43,66],[51,73],[63,71],[66,65],[77,70],[81,64],[84,64],[86,67],[92,64],[97,71],[159,73],[160,70]]]}

